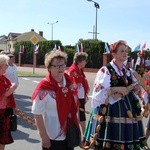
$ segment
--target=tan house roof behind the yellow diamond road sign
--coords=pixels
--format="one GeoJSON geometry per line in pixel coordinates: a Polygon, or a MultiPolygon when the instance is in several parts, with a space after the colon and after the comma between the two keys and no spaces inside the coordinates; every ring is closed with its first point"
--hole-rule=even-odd
{"type": "Polygon", "coordinates": [[[45,39],[44,37],[42,37],[41,35],[39,35],[38,33],[34,32],[34,31],[30,31],[30,32],[25,32],[19,36],[17,36],[15,38],[15,40],[17,42],[21,42],[21,41],[30,41],[30,39],[36,36],[38,38],[39,41],[47,41],[47,39],[45,39]]]}

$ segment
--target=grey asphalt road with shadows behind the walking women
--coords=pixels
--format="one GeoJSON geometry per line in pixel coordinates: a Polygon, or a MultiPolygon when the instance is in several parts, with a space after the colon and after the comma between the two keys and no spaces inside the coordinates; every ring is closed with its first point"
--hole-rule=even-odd
{"type": "MultiPolygon", "coordinates": [[[[44,71],[46,72],[46,70],[44,71]]],[[[86,72],[91,92],[95,75],[95,73],[86,72]]],[[[19,77],[20,84],[15,91],[17,107],[22,109],[31,117],[33,117],[33,115],[31,114],[31,95],[35,86],[40,80],[41,78],[39,77],[19,77]]],[[[91,92],[89,95],[91,95],[91,92]]],[[[90,99],[86,104],[86,110],[91,111],[90,99]]],[[[89,115],[87,115],[87,120],[88,118],[89,115]]],[[[146,125],[147,119],[143,119],[143,123],[144,125],[146,125]]],[[[41,150],[41,143],[37,130],[32,125],[29,125],[24,120],[22,120],[20,117],[18,117],[18,130],[16,132],[13,132],[13,138],[14,143],[7,145],[6,150],[41,150]]],[[[148,142],[150,143],[150,139],[148,142]]],[[[75,150],[79,149],[79,147],[75,148],[75,150]]]]}

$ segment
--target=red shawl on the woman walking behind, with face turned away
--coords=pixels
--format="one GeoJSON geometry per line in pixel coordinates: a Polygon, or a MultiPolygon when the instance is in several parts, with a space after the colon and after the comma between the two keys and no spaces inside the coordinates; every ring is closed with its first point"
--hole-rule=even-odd
{"type": "Polygon", "coordinates": [[[71,76],[74,77],[76,83],[83,84],[83,87],[85,90],[85,95],[87,95],[90,88],[89,88],[88,82],[86,80],[85,74],[83,72],[83,69],[79,69],[79,67],[73,63],[69,67],[68,72],[70,73],[71,76]]]}

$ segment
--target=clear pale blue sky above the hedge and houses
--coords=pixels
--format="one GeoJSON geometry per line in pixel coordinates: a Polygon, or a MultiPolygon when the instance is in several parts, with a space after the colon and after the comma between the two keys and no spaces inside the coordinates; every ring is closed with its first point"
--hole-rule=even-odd
{"type": "MultiPolygon", "coordinates": [[[[130,47],[146,41],[150,48],[150,0],[95,0],[99,3],[98,39],[109,44],[127,41],[130,47]]],[[[34,29],[43,36],[75,45],[80,38],[92,39],[96,9],[87,0],[1,0],[0,35],[34,29]]]]}

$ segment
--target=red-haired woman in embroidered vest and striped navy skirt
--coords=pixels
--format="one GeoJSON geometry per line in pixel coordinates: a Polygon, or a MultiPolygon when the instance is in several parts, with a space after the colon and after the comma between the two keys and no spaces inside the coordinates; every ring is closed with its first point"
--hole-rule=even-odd
{"type": "Polygon", "coordinates": [[[86,138],[96,150],[140,150],[146,145],[133,71],[126,68],[125,41],[110,45],[112,61],[97,73],[92,94],[92,117],[86,138]],[[134,83],[134,84],[133,84],[134,83]],[[130,86],[130,88],[128,87],[130,86]],[[128,88],[127,88],[128,87],[128,88]]]}

